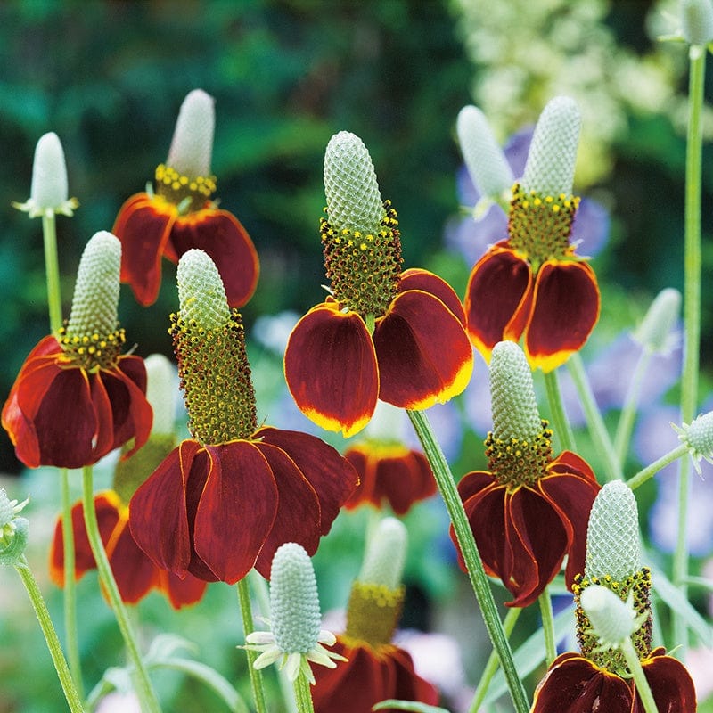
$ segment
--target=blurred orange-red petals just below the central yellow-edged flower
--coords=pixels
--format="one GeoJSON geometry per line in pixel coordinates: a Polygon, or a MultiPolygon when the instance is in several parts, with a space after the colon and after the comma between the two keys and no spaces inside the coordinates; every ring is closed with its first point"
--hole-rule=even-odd
{"type": "Polygon", "coordinates": [[[436,481],[425,455],[398,445],[372,442],[352,446],[344,453],[359,475],[359,485],[345,507],[364,503],[381,508],[388,501],[397,515],[404,515],[419,500],[436,493],[436,481]]]}

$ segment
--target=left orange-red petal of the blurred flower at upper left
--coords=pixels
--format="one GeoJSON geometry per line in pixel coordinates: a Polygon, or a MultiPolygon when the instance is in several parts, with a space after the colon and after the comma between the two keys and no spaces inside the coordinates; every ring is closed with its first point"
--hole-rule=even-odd
{"type": "Polygon", "coordinates": [[[161,255],[178,209],[160,196],[136,193],[121,206],[111,232],[121,241],[121,282],[148,307],[159,296],[161,255]]]}

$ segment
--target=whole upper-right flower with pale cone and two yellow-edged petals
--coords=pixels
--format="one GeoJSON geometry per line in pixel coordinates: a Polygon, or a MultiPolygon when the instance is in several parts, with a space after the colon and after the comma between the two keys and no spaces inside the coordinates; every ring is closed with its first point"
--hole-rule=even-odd
{"type": "Polygon", "coordinates": [[[522,339],[530,365],[552,371],[584,346],[599,318],[594,270],[570,242],[579,124],[571,99],[545,106],[524,176],[512,187],[507,236],[471,270],[467,328],[486,361],[497,342],[522,339]]]}

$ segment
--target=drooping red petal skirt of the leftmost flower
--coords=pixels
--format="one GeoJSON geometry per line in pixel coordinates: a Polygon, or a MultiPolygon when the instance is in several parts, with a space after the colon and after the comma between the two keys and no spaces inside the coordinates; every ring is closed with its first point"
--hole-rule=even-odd
{"type": "MultiPolygon", "coordinates": [[[[89,348],[100,348],[102,338],[94,337],[87,338],[89,348]]],[[[116,354],[94,362],[65,344],[67,338],[60,344],[45,337],[30,352],[3,408],[3,427],[22,463],[80,468],[130,438],[134,452],[149,437],[143,360],[117,356],[123,332],[108,339],[112,344],[104,348],[116,354]]]]}

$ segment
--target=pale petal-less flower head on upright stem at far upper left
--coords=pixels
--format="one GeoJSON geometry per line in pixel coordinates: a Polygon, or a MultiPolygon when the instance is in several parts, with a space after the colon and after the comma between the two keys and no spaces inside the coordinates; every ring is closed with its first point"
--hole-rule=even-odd
{"type": "Polygon", "coordinates": [[[53,131],[40,136],[32,164],[29,201],[12,203],[27,211],[29,217],[54,217],[56,213],[72,216],[78,207],[76,198],[68,198],[67,165],[60,137],[53,131]]]}

